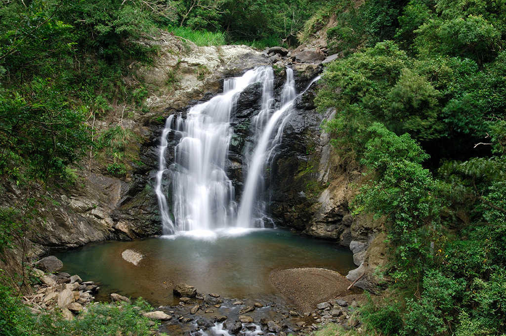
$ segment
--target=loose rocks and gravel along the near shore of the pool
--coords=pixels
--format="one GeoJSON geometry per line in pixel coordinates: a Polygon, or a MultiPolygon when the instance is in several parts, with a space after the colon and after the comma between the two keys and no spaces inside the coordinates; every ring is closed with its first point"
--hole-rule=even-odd
{"type": "MultiPolygon", "coordinates": [[[[33,313],[60,310],[64,318],[73,319],[93,304],[100,287],[92,281],[83,281],[78,275],[59,272],[63,264],[56,257],[43,258],[34,266],[37,268],[32,275],[40,283],[34,285],[33,295],[24,297],[33,313]]],[[[347,291],[344,287],[350,282],[337,272],[316,268],[276,270],[271,281],[286,302],[279,297],[224,298],[218,293],[199,293],[194,286],[180,283],[173,288],[179,298],[178,305],[140,313],[158,320],[161,323],[158,331],[171,335],[197,336],[209,331],[235,335],[246,332],[249,335],[307,335],[328,322],[347,328],[360,323],[353,313],[364,297],[358,289],[347,291]],[[324,287],[340,289],[321,292],[324,287]],[[317,295],[309,296],[308,292],[317,295]],[[318,301],[322,297],[325,300],[318,301]]],[[[111,293],[110,299],[112,303],[131,303],[129,298],[117,293],[111,293]]]]}

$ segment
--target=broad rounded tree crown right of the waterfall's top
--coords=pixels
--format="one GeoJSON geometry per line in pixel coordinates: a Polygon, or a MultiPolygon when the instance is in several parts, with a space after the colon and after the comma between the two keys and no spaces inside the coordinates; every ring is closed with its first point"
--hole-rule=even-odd
{"type": "Polygon", "coordinates": [[[339,135],[337,141],[352,139],[336,145],[360,153],[369,139],[367,125],[374,120],[396,134],[408,132],[420,140],[440,137],[440,93],[410,69],[412,62],[385,41],[327,66],[315,102],[320,109],[336,107],[327,131],[339,135]]]}

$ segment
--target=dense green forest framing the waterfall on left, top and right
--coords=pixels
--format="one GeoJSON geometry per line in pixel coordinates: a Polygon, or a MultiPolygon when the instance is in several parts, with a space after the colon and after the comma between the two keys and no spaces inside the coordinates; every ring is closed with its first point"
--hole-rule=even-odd
{"type": "MultiPolygon", "coordinates": [[[[0,175],[25,186],[69,179],[91,120],[143,108],[142,78],[125,70],[152,62],[139,38],[179,27],[290,47],[332,18],[327,46],[342,57],[316,103],[336,110],[324,125],[335,149],[369,169],[354,213],[389,234],[389,295],[361,310],[366,330],[506,333],[505,1],[13,0],[0,18],[0,175]]],[[[19,213],[0,211],[0,250],[22,233],[19,213]]],[[[16,335],[2,288],[0,327],[16,335]]]]}

